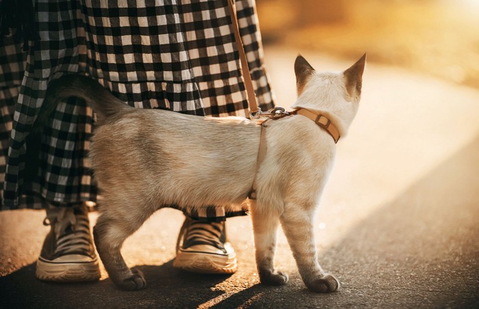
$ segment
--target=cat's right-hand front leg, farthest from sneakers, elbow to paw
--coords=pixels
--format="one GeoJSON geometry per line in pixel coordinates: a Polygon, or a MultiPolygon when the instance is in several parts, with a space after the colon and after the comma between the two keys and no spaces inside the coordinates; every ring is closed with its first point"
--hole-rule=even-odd
{"type": "Polygon", "coordinates": [[[281,224],[306,286],[316,293],[334,292],[339,288],[339,281],[333,275],[325,273],[318,263],[313,209],[313,206],[286,204],[281,224]]]}

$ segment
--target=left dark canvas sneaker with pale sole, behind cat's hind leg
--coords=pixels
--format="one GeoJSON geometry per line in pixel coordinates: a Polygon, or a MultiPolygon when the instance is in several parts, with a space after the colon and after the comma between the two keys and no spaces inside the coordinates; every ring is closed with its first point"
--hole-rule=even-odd
{"type": "Polygon", "coordinates": [[[36,278],[57,282],[99,280],[87,206],[47,209],[43,224],[51,230],[36,263],[36,278]]]}

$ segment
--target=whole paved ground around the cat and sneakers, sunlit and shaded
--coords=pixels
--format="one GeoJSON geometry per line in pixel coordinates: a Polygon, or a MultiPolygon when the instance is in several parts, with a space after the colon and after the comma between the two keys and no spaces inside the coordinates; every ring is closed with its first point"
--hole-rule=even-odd
{"type": "MultiPolygon", "coordinates": [[[[294,57],[266,50],[285,107],[294,101],[294,57]]],[[[318,70],[355,60],[305,57],[318,70]]],[[[104,270],[92,284],[40,282],[34,263],[48,231],[43,214],[10,211],[0,213],[0,307],[479,308],[478,115],[478,90],[367,67],[361,108],[338,144],[316,224],[322,266],[342,284],[337,293],[307,291],[282,233],[276,265],[290,282],[259,284],[248,217],[229,219],[239,260],[233,276],[172,269],[183,217],[173,210],[156,213],[125,244],[146,290],[118,291],[104,270]]]]}

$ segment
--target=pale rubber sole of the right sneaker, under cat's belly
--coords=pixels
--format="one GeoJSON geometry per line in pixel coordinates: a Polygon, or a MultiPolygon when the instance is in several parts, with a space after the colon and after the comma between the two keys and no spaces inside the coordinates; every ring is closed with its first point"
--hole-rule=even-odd
{"type": "Polygon", "coordinates": [[[235,273],[238,269],[236,254],[233,256],[185,252],[179,250],[173,267],[194,273],[235,273]]]}

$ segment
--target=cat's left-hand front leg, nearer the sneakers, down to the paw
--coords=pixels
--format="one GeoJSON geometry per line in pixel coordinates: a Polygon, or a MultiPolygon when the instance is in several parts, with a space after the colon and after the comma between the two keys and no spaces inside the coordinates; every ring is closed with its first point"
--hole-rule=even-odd
{"type": "Polygon", "coordinates": [[[251,207],[253,232],[255,234],[256,264],[259,279],[263,284],[283,285],[287,274],[274,270],[274,251],[276,250],[276,232],[279,226],[279,214],[251,207]]]}

